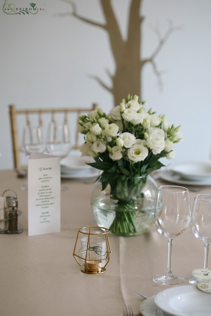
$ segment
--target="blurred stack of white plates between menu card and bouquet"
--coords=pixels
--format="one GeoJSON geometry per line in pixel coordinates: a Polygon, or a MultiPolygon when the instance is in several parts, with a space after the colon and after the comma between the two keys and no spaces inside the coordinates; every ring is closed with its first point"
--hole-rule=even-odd
{"type": "Polygon", "coordinates": [[[61,160],[61,178],[80,179],[97,177],[99,170],[87,165],[94,162],[90,156],[70,155],[61,160]]]}

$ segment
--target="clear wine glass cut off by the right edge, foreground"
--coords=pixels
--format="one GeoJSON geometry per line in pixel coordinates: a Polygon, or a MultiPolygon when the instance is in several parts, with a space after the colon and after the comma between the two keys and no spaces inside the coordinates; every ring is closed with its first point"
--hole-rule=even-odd
{"type": "Polygon", "coordinates": [[[195,196],[190,225],[195,237],[204,243],[204,269],[201,269],[201,278],[193,277],[189,280],[189,283],[196,284],[208,276],[208,250],[211,242],[211,194],[195,196]]]}

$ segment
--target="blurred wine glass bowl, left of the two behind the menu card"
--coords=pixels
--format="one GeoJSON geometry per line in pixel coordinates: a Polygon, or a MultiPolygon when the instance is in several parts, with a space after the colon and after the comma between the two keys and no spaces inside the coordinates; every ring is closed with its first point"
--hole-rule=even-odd
{"type": "Polygon", "coordinates": [[[42,153],[45,150],[45,137],[42,126],[27,125],[23,129],[22,149],[27,157],[31,153],[42,153]]]}

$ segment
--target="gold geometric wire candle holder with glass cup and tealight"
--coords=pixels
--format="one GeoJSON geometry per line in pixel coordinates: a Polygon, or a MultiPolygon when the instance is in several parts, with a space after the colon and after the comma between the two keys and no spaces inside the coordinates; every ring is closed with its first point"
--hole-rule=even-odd
{"type": "Polygon", "coordinates": [[[73,256],[81,266],[82,272],[88,274],[105,272],[105,266],[111,255],[108,232],[108,228],[97,226],[79,229],[73,256]]]}

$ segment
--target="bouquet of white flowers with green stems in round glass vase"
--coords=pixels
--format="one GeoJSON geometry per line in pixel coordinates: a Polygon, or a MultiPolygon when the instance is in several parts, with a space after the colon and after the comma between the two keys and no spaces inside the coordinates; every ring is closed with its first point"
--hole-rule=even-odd
{"type": "Polygon", "coordinates": [[[102,190],[110,184],[111,197],[117,201],[116,217],[109,228],[113,234],[136,233],[134,192],[127,179],[142,177],[132,183],[138,195],[147,175],[163,166],[159,159],[174,158],[174,143],[182,140],[180,126],[169,125],[165,115],[155,114],[145,110],[137,95],[128,95],[108,115],[99,108],[80,116],[78,131],[85,135],[82,156],[94,158],[89,165],[103,171],[99,177],[102,190]]]}

